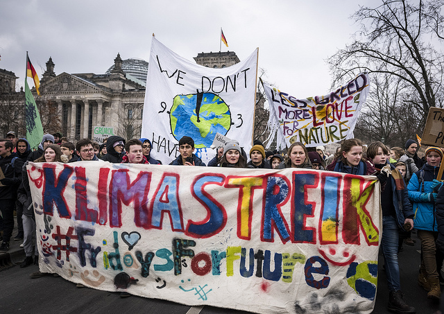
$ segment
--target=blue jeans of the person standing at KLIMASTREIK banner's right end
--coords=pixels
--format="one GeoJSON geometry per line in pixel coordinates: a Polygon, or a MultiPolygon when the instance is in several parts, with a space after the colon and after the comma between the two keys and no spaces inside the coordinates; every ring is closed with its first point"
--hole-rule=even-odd
{"type": "Polygon", "coordinates": [[[400,266],[398,264],[399,228],[392,216],[382,216],[382,254],[388,281],[388,290],[401,290],[400,266]]]}

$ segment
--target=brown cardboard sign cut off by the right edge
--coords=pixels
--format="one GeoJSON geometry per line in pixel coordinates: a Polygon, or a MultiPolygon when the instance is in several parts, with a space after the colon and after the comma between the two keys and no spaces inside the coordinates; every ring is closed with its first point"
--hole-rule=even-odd
{"type": "Polygon", "coordinates": [[[421,145],[444,147],[444,109],[430,107],[421,145]]]}

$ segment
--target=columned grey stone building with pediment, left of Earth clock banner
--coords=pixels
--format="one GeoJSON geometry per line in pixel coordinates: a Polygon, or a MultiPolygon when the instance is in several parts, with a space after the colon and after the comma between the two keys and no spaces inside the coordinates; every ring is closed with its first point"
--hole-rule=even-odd
{"type": "Polygon", "coordinates": [[[139,136],[145,86],[142,80],[125,73],[122,64],[118,54],[108,73],[56,75],[52,59],[46,62],[39,101],[57,103],[61,131],[69,140],[93,139],[94,126],[112,127],[114,134],[123,137],[139,136]]]}

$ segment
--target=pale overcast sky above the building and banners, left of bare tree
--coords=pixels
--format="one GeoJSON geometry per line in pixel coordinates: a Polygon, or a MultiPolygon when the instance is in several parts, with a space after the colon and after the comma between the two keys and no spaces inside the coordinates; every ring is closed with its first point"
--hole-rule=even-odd
{"type": "MultiPolygon", "coordinates": [[[[149,59],[151,36],[193,61],[219,51],[220,28],[244,60],[259,47],[264,80],[298,98],[330,91],[325,60],[352,42],[350,16],[378,0],[115,1],[2,0],[0,69],[24,85],[26,51],[39,78],[51,56],[56,74],[102,74],[117,53],[149,59]]],[[[29,82],[32,85],[31,82],[29,82]]]]}

